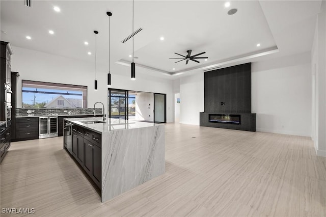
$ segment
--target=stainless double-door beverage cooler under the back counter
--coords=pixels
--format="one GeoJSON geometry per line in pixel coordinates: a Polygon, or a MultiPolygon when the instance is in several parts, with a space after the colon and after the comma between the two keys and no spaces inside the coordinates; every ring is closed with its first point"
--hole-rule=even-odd
{"type": "Polygon", "coordinates": [[[58,137],[58,117],[39,117],[39,139],[58,137]]]}

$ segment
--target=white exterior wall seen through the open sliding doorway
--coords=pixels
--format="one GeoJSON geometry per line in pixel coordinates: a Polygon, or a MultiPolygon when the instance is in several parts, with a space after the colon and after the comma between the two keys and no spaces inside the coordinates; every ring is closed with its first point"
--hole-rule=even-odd
{"type": "Polygon", "coordinates": [[[135,120],[153,121],[154,94],[137,93],[136,95],[136,115],[135,120]]]}

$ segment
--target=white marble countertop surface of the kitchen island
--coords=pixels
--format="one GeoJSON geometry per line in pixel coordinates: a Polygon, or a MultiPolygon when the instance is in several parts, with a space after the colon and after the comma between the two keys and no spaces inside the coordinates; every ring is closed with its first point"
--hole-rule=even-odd
{"type": "Polygon", "coordinates": [[[143,128],[143,127],[152,127],[155,125],[162,125],[162,124],[154,124],[154,123],[147,123],[142,121],[133,121],[133,120],[124,120],[124,119],[117,119],[117,118],[107,118],[105,123],[83,123],[81,121],[102,121],[101,117],[94,117],[94,118],[65,118],[71,123],[78,124],[80,126],[89,128],[91,130],[103,133],[112,130],[125,130],[125,129],[136,129],[136,128],[143,128]]]}

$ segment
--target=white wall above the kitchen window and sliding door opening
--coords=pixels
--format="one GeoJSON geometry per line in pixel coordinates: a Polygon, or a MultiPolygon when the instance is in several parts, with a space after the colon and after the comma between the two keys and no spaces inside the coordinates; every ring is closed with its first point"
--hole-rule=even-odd
{"type": "MultiPolygon", "coordinates": [[[[12,71],[19,72],[17,84],[17,107],[21,107],[21,80],[36,80],[88,86],[88,107],[97,101],[106,105],[107,113],[107,68],[97,66],[98,91],[94,91],[95,64],[66,57],[51,55],[31,49],[12,46],[12,71]]],[[[112,87],[116,89],[156,92],[167,94],[167,122],[173,122],[173,81],[156,78],[136,67],[137,79],[130,79],[130,67],[112,64],[112,87]]],[[[154,72],[153,72],[154,73],[154,72]]],[[[99,106],[99,105],[98,105],[99,106]]]]}

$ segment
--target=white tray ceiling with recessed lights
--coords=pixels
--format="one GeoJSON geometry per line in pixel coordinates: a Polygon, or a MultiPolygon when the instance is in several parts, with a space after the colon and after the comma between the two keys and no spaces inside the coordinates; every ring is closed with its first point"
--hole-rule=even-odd
{"type": "MultiPolygon", "coordinates": [[[[30,8],[23,0],[1,1],[1,30],[7,32],[1,33],[1,40],[94,62],[93,31],[97,30],[97,60],[108,64],[106,11],[110,11],[111,64],[130,67],[132,40],[121,41],[132,33],[132,1],[31,2],[30,8]],[[55,12],[54,6],[61,12],[55,12]],[[50,35],[48,30],[55,34],[50,35]]],[[[231,1],[229,8],[225,8],[225,2],[134,1],[134,30],[143,28],[134,36],[134,56],[139,57],[134,60],[136,65],[172,77],[195,69],[250,62],[276,51],[278,55],[291,55],[311,50],[321,1],[231,1]],[[232,8],[238,12],[228,15],[232,8]],[[185,65],[185,61],[174,63],[169,59],[178,57],[174,52],[186,55],[188,49],[193,55],[206,51],[202,56],[208,61],[185,65]]]]}

